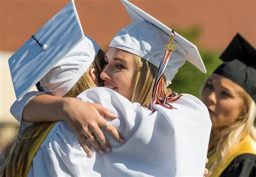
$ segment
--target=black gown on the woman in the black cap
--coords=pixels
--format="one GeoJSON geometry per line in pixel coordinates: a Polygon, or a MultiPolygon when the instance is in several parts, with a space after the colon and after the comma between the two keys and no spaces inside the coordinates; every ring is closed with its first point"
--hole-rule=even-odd
{"type": "Polygon", "coordinates": [[[225,171],[221,173],[221,177],[255,177],[256,175],[256,155],[254,154],[241,154],[238,155],[227,166],[225,171]]]}

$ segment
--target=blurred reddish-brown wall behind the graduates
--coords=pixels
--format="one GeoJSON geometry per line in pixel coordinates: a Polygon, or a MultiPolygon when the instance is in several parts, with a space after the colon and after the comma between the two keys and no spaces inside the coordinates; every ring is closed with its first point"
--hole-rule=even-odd
{"type": "MultiPolygon", "coordinates": [[[[256,1],[130,0],[164,24],[189,29],[201,26],[199,46],[223,49],[236,32],[256,45],[256,1]]],[[[16,51],[30,36],[67,4],[68,0],[0,0],[0,50],[16,51]]],[[[119,0],[77,0],[84,32],[103,48],[129,24],[119,0]]]]}

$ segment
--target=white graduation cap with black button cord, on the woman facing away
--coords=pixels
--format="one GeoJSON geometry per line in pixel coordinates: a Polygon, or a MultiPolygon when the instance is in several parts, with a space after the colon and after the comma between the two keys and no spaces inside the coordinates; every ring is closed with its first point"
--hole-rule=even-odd
{"type": "Polygon", "coordinates": [[[49,94],[64,96],[91,65],[98,50],[98,45],[84,36],[71,1],[9,59],[18,101],[37,82],[49,94]]]}

